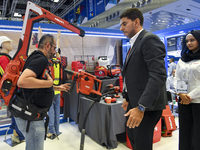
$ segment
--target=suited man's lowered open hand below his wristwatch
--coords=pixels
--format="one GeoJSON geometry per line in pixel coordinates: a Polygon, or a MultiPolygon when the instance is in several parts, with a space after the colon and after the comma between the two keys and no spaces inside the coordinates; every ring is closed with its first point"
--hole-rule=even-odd
{"type": "Polygon", "coordinates": [[[144,112],[139,111],[137,107],[130,109],[124,116],[129,116],[127,121],[127,127],[135,128],[138,127],[144,117],[144,112]]]}

